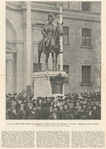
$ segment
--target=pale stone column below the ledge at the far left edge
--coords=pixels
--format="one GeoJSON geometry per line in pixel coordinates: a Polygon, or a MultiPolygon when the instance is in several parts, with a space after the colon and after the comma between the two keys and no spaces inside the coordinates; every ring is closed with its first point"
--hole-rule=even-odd
{"type": "Polygon", "coordinates": [[[7,54],[6,57],[6,93],[13,93],[13,55],[12,53],[7,54]]]}

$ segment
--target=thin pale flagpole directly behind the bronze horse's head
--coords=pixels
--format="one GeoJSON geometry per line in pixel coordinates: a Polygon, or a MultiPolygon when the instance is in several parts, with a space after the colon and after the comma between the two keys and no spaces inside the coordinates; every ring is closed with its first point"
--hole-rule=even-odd
{"type": "MultiPolygon", "coordinates": [[[[62,2],[60,2],[60,23],[63,22],[63,10],[62,10],[62,2]]],[[[63,52],[63,36],[60,36],[60,48],[61,52],[63,52]]],[[[63,71],[63,53],[60,54],[60,71],[63,71]]]]}

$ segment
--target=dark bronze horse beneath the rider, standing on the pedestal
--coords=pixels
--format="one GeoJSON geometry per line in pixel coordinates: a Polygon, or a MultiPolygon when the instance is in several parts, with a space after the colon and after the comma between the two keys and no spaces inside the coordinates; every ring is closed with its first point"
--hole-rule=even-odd
{"type": "Polygon", "coordinates": [[[63,35],[63,22],[60,24],[57,22],[57,26],[55,29],[55,32],[53,34],[55,45],[52,46],[51,43],[49,43],[48,47],[45,48],[44,52],[44,43],[43,39],[38,43],[38,69],[40,66],[40,59],[41,59],[41,54],[44,52],[46,54],[46,69],[48,70],[48,59],[49,59],[49,54],[52,54],[52,62],[53,62],[53,70],[57,70],[57,59],[58,55],[62,52],[60,52],[60,36],[63,35]],[[46,52],[49,51],[49,52],[46,52]]]}

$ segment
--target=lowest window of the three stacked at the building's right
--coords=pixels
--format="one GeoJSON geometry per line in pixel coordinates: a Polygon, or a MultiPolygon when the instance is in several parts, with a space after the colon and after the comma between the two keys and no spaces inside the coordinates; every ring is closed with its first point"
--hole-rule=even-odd
{"type": "Polygon", "coordinates": [[[82,84],[91,84],[91,66],[82,66],[82,84]]]}

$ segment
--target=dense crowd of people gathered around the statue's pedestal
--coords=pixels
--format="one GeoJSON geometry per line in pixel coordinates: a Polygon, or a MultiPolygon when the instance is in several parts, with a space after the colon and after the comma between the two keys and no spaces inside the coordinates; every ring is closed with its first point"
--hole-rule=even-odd
{"type": "Polygon", "coordinates": [[[100,92],[57,97],[6,95],[6,119],[101,119],[100,92]]]}

